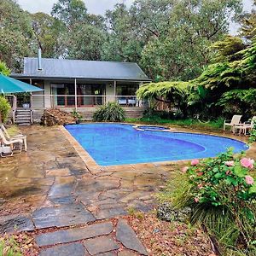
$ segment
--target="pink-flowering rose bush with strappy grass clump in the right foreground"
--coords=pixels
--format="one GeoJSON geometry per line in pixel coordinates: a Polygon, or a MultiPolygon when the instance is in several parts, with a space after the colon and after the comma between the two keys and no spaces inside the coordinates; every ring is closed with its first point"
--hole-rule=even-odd
{"type": "Polygon", "coordinates": [[[250,255],[256,249],[253,163],[231,149],[214,159],[192,160],[183,168],[183,183],[171,193],[172,205],[190,207],[191,222],[203,224],[225,253],[240,248],[250,255]]]}

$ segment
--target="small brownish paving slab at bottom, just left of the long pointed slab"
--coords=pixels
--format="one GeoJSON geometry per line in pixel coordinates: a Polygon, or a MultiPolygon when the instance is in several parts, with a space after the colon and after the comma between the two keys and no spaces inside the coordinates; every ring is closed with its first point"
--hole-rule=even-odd
{"type": "Polygon", "coordinates": [[[96,237],[87,241],[84,241],[84,247],[91,255],[98,253],[106,253],[109,251],[119,249],[119,244],[113,241],[111,237],[96,237]]]}

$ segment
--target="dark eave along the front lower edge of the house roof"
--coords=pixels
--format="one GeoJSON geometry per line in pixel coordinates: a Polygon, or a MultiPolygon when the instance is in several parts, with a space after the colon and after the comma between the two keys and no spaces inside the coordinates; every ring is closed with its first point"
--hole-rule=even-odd
{"type": "Polygon", "coordinates": [[[81,80],[102,80],[102,81],[137,81],[137,82],[151,82],[152,79],[128,79],[128,78],[84,78],[84,77],[53,77],[53,76],[39,76],[39,75],[26,75],[22,73],[12,73],[10,75],[16,79],[81,79],[81,80]]]}

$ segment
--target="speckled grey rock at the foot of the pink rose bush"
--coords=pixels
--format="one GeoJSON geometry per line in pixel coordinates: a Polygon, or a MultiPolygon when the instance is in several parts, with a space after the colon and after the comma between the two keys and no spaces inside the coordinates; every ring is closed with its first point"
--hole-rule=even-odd
{"type": "Polygon", "coordinates": [[[185,207],[177,210],[172,207],[170,203],[160,205],[157,209],[157,218],[166,221],[185,222],[191,214],[191,208],[185,207]]]}

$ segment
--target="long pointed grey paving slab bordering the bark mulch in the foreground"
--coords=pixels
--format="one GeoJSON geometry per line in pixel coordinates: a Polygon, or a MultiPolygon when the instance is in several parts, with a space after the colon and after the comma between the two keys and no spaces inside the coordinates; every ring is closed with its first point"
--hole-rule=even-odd
{"type": "Polygon", "coordinates": [[[145,247],[143,247],[143,243],[137,238],[135,232],[124,219],[120,219],[119,223],[117,224],[116,238],[127,249],[131,249],[143,255],[148,255],[145,247]]]}

